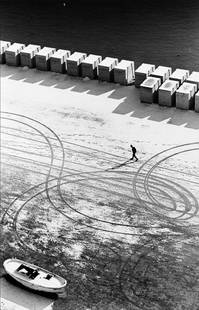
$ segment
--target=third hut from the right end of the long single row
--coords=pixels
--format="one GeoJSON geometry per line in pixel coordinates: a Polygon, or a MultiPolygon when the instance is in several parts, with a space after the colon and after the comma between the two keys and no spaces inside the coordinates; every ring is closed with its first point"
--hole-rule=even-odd
{"type": "Polygon", "coordinates": [[[98,65],[102,61],[102,56],[90,54],[81,64],[82,77],[95,79],[98,76],[98,65]]]}

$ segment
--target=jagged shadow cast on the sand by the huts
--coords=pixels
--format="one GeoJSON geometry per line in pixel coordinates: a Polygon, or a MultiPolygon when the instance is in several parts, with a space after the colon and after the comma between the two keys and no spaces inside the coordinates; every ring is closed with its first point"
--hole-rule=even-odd
{"type": "Polygon", "coordinates": [[[57,89],[70,89],[78,93],[99,96],[109,93],[108,97],[119,100],[120,103],[112,111],[116,114],[129,114],[139,119],[149,119],[156,122],[169,123],[192,129],[199,129],[198,113],[176,109],[175,107],[161,107],[157,104],[140,102],[139,89],[134,86],[120,86],[114,83],[99,82],[97,80],[71,77],[53,72],[42,72],[36,69],[21,67],[9,67],[1,65],[1,77],[7,77],[15,81],[25,83],[37,83],[42,86],[55,87],[57,89]],[[122,102],[121,102],[122,100],[122,102]]]}

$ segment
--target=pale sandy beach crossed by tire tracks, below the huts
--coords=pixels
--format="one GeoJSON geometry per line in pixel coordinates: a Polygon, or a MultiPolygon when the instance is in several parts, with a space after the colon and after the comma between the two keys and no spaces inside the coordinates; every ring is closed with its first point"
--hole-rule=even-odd
{"type": "Polygon", "coordinates": [[[199,114],[134,86],[0,70],[1,265],[68,280],[65,298],[28,305],[2,277],[2,309],[197,310],[199,114]]]}

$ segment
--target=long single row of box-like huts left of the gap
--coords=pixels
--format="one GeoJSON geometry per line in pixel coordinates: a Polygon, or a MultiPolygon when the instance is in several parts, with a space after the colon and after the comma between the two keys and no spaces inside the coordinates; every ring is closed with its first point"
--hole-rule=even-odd
{"type": "Polygon", "coordinates": [[[36,67],[38,70],[67,73],[124,85],[134,82],[134,62],[39,45],[0,41],[0,63],[36,67]]]}

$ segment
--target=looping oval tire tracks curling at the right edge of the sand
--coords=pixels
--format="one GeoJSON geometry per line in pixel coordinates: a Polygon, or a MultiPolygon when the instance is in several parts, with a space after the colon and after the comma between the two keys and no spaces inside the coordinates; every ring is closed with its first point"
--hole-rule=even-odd
{"type": "MultiPolygon", "coordinates": [[[[198,192],[198,183],[191,184],[191,180],[190,183],[188,181],[184,182],[185,186],[177,183],[176,179],[179,174],[184,177],[183,172],[178,173],[176,171],[175,177],[173,173],[167,174],[164,178],[158,176],[161,164],[181,154],[198,153],[198,151],[199,142],[188,143],[169,148],[146,161],[135,174],[133,183],[134,195],[140,200],[140,204],[151,212],[162,214],[163,217],[175,220],[178,223],[195,217],[195,224],[198,224],[199,204],[198,198],[193,194],[193,192],[196,194],[198,192]],[[141,184],[144,189],[142,193],[139,191],[141,184]],[[161,201],[158,199],[157,193],[163,193],[161,201]],[[152,203],[153,206],[151,207],[152,203]]],[[[197,176],[197,171],[195,172],[198,180],[199,174],[197,176]]],[[[183,183],[183,179],[181,179],[181,183],[183,183]]]]}

